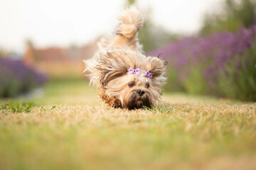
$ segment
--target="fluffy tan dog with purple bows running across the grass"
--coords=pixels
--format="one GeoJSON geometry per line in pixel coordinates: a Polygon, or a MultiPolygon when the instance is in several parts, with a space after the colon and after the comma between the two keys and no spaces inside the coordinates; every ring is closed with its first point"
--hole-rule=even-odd
{"type": "Polygon", "coordinates": [[[142,14],[134,6],[123,11],[113,35],[101,38],[99,50],[85,63],[84,74],[100,98],[114,108],[152,108],[161,100],[166,62],[146,57],[139,44],[142,14]]]}

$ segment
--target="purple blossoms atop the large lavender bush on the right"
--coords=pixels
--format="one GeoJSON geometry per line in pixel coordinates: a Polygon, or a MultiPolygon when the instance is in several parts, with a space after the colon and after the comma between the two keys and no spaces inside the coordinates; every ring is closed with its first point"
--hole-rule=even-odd
{"type": "MultiPolygon", "coordinates": [[[[256,25],[240,28],[237,33],[214,33],[206,38],[184,38],[170,42],[164,47],[149,52],[148,55],[163,54],[162,58],[169,62],[169,67],[176,72],[176,82],[172,81],[176,84],[175,86],[181,86],[182,89],[183,81],[191,76],[191,72],[196,68],[205,79],[209,93],[212,91],[215,93],[221,81],[220,77],[229,79],[230,76],[238,76],[238,72],[242,72],[246,77],[248,72],[252,72],[250,70],[253,65],[250,63],[255,61],[253,60],[255,56],[247,56],[245,53],[253,48],[256,48],[256,25]],[[249,64],[250,67],[248,67],[249,64]],[[229,67],[234,68],[232,72],[228,69],[229,67]]],[[[256,64],[254,67],[256,68],[256,64]]],[[[173,74],[168,75],[173,76],[173,74]]]]}

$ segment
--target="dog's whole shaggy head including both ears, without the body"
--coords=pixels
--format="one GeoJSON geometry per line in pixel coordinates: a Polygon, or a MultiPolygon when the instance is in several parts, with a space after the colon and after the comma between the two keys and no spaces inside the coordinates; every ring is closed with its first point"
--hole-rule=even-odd
{"type": "MultiPolygon", "coordinates": [[[[157,57],[146,57],[141,52],[132,50],[105,50],[98,52],[95,72],[90,74],[95,79],[102,99],[113,107],[151,108],[161,96],[161,86],[166,64],[157,57]],[[131,73],[129,69],[138,69],[140,73],[131,73]],[[150,72],[151,77],[145,76],[150,72]],[[98,82],[98,84],[97,84],[98,82]]],[[[87,64],[88,65],[88,64],[87,64]]]]}

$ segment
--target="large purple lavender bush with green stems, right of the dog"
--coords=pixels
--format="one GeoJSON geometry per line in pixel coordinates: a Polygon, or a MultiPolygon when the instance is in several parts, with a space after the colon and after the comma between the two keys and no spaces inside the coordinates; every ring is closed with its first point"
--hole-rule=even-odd
{"type": "Polygon", "coordinates": [[[159,53],[171,67],[166,89],[256,101],[256,26],[185,38],[149,55],[159,53]]]}

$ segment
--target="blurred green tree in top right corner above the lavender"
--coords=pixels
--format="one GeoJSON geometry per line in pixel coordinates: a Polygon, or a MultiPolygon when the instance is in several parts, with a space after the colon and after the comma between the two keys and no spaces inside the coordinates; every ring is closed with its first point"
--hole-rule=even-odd
{"type": "Polygon", "coordinates": [[[225,0],[222,12],[215,14],[206,13],[201,34],[206,35],[223,30],[236,31],[240,26],[247,28],[254,23],[255,16],[255,1],[225,0]]]}

